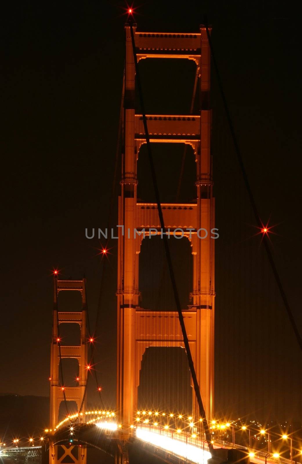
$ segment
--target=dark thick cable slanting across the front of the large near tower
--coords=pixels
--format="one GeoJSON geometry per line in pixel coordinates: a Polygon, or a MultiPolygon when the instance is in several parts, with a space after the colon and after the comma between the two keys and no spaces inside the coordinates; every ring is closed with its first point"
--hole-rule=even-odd
{"type": "MultiPolygon", "coordinates": [[[[138,69],[138,64],[137,64],[137,56],[136,56],[136,49],[135,49],[135,40],[134,40],[134,33],[133,33],[133,26],[132,26],[132,21],[129,21],[129,26],[130,26],[130,32],[131,32],[131,40],[132,40],[132,48],[133,48],[133,56],[134,56],[134,63],[135,63],[135,73],[136,73],[136,83],[137,83],[137,89],[139,93],[139,98],[140,98],[140,103],[141,103],[141,114],[142,114],[142,119],[143,119],[143,124],[144,124],[144,130],[145,130],[145,138],[146,138],[146,144],[147,144],[147,150],[148,150],[148,158],[149,158],[149,164],[150,164],[150,171],[151,171],[151,176],[152,176],[152,181],[153,181],[153,186],[154,186],[154,193],[155,193],[155,199],[156,199],[156,204],[157,204],[157,210],[159,214],[159,219],[161,223],[161,229],[163,231],[166,230],[165,228],[165,223],[164,223],[164,218],[161,210],[161,201],[160,201],[160,195],[158,191],[158,186],[157,186],[157,180],[156,180],[156,174],[155,174],[155,169],[154,169],[154,162],[153,162],[153,157],[151,153],[151,145],[150,145],[150,137],[148,133],[148,126],[147,126],[147,119],[146,119],[146,113],[145,113],[145,108],[144,108],[144,102],[143,102],[143,96],[142,96],[142,90],[141,90],[141,80],[140,80],[140,75],[139,75],[139,69],[138,69]]],[[[199,389],[199,384],[197,380],[197,375],[195,372],[195,367],[194,367],[194,362],[191,354],[191,348],[189,345],[189,340],[188,336],[186,334],[186,326],[184,322],[184,317],[182,315],[182,310],[180,306],[180,298],[177,290],[177,285],[176,285],[176,280],[175,280],[175,275],[173,271],[173,265],[172,265],[172,260],[171,260],[171,254],[169,250],[169,244],[167,241],[167,234],[163,233],[163,241],[164,241],[164,247],[165,247],[165,253],[166,253],[166,258],[167,258],[167,264],[169,268],[169,273],[170,273],[170,278],[171,278],[171,284],[173,287],[173,294],[174,294],[174,299],[175,299],[175,304],[178,312],[178,317],[180,321],[180,327],[182,331],[182,336],[186,348],[186,355],[188,358],[188,363],[192,375],[192,380],[193,380],[193,385],[194,385],[194,390],[199,406],[199,412],[200,412],[200,417],[203,419],[203,424],[204,424],[204,430],[206,434],[206,441],[209,447],[209,451],[213,451],[213,445],[211,443],[211,435],[210,435],[210,430],[209,426],[206,420],[206,412],[205,408],[203,406],[201,394],[200,394],[200,389],[199,389]]]]}

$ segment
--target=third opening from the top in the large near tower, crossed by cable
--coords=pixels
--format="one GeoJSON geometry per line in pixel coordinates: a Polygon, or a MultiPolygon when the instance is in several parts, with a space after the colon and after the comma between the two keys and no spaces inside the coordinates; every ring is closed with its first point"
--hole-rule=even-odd
{"type": "MultiPolygon", "coordinates": [[[[193,257],[188,238],[170,236],[169,247],[182,309],[188,309],[193,280],[193,257]]],[[[139,256],[140,306],[152,311],[175,311],[175,299],[161,235],[146,237],[139,256]]]]}

